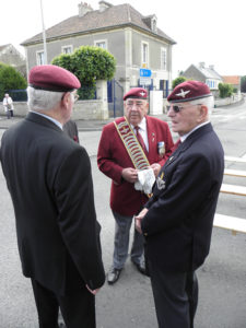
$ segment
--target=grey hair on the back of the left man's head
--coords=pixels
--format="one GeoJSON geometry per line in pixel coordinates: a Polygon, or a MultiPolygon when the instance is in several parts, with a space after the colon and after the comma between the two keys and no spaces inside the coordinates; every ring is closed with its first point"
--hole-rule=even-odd
{"type": "Polygon", "coordinates": [[[65,92],[54,92],[27,87],[28,101],[27,105],[30,110],[50,110],[61,101],[65,92]]]}

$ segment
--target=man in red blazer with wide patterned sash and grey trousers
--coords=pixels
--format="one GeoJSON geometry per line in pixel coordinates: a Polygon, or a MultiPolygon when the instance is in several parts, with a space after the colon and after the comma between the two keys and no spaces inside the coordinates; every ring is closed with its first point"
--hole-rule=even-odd
{"type": "MultiPolygon", "coordinates": [[[[124,101],[126,116],[104,127],[97,154],[99,169],[112,179],[110,208],[116,224],[109,284],[118,280],[127,260],[132,216],[147,202],[152,189],[149,181],[155,179],[173,147],[168,125],[147,115],[147,90],[133,87],[124,101]]],[[[145,273],[143,237],[136,230],[130,257],[145,273]]]]}

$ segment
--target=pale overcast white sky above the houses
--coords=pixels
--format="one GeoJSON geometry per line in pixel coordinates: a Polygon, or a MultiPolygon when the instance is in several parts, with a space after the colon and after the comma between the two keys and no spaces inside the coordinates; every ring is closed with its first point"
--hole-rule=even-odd
{"type": "MultiPolygon", "coordinates": [[[[45,27],[78,14],[79,0],[43,0],[45,27]]],[[[98,1],[86,0],[94,10],[98,1]]],[[[177,44],[173,77],[200,61],[221,75],[246,75],[245,0],[109,0],[130,3],[142,15],[155,14],[157,26],[177,44]]],[[[0,45],[22,42],[42,32],[40,0],[2,0],[0,45]]]]}

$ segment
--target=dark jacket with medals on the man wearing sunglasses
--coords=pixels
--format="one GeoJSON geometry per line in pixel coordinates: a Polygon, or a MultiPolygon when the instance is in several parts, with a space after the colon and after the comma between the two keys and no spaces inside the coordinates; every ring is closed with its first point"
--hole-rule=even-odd
{"type": "Polygon", "coordinates": [[[141,224],[147,257],[160,269],[196,270],[204,261],[223,171],[211,124],[194,131],[162,167],[141,224]]]}

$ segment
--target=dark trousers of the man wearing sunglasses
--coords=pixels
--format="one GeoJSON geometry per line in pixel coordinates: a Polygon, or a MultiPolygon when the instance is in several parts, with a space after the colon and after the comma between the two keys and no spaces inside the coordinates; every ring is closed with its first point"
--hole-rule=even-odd
{"type": "Polygon", "coordinates": [[[163,272],[149,263],[160,328],[192,328],[198,303],[195,272],[163,272]]]}

